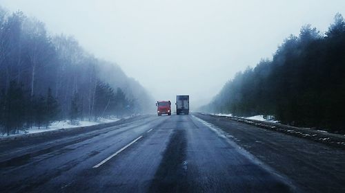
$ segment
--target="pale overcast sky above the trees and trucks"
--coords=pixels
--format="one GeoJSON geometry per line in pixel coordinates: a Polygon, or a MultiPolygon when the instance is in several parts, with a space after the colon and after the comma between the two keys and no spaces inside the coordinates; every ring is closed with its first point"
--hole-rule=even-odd
{"type": "Polygon", "coordinates": [[[237,71],[271,58],[311,23],[325,32],[345,1],[0,0],[117,63],[157,100],[205,104],[237,71]]]}

